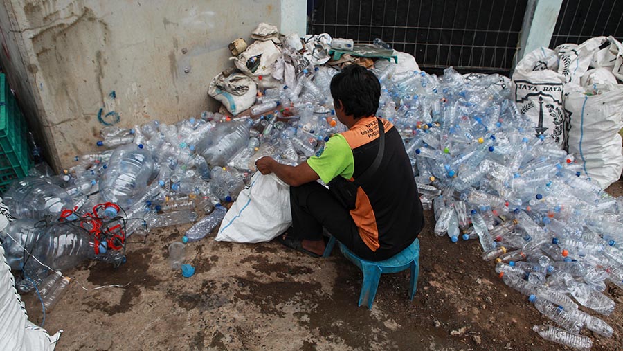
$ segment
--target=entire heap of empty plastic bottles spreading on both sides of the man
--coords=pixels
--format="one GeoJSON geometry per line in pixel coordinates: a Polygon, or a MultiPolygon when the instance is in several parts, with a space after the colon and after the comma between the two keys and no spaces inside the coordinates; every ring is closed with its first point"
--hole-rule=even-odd
{"type": "MultiPolygon", "coordinates": [[[[573,155],[536,135],[512,102],[507,78],[396,69],[388,64],[374,70],[382,88],[377,115],[404,138],[422,203],[435,213],[435,233],[452,242],[478,239],[483,260],[497,260],[491,269],[562,328],[535,327],[545,339],[588,348],[592,342],[579,335],[581,328],[611,336],[604,321],[577,307],[606,315],[615,307],[604,291],[606,281],[623,288],[623,199],[582,177],[573,155]]],[[[42,220],[42,236],[54,237],[59,227],[78,231],[69,224],[71,215],[61,223],[51,220],[73,208],[79,221],[100,211],[108,228],[118,224],[127,237],[195,222],[199,208],[211,215],[190,228],[185,241],[200,240],[219,225],[226,212],[220,204],[235,201],[257,159],[273,156],[296,165],[345,130],[329,93],[335,73],[309,67],[294,87],[263,91],[251,107],[254,118],[204,112],[174,125],[154,120],[133,129],[102,129],[98,145],[106,150],[77,156],[64,174],[23,179],[8,190],[5,201],[21,218],[8,235],[19,246],[48,245],[24,233],[42,220]]],[[[93,250],[110,249],[105,241],[88,235],[80,240],[90,250],[76,255],[115,261],[93,250]]],[[[72,245],[82,250],[80,240],[72,245]]],[[[21,268],[23,253],[15,247],[7,252],[21,268]]],[[[53,262],[60,252],[73,251],[33,252],[53,262]]]]}

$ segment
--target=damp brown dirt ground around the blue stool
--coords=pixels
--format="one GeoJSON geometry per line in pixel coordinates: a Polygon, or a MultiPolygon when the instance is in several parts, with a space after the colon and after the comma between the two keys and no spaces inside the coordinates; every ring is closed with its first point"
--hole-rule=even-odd
{"type": "MultiPolygon", "coordinates": [[[[623,195],[623,181],[608,192],[623,195]]],[[[179,226],[131,237],[118,269],[90,262],[65,272],[89,289],[129,285],[73,283],[44,327],[64,330],[57,350],[567,350],[532,332],[545,318],[480,259],[477,241],[452,244],[433,234],[430,211],[426,220],[413,302],[404,271],[381,277],[371,311],[357,307],[361,272],[338,249],[310,258],[277,242],[188,244],[197,273],[183,278],[166,253],[188,228],[179,226]]],[[[585,330],[593,350],[623,349],[623,291],[608,293],[615,334],[585,330]]],[[[41,323],[35,295],[24,301],[41,323]]]]}

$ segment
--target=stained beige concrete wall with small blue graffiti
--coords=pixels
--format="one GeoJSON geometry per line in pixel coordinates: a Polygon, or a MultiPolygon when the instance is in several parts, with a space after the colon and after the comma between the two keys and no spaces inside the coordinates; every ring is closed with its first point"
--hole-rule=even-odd
{"type": "Polygon", "coordinates": [[[305,6],[291,16],[299,2],[2,0],[0,62],[59,170],[96,150],[105,125],[174,123],[217,109],[206,92],[232,65],[229,42],[251,42],[258,22],[279,27],[282,16],[300,26],[305,6]]]}

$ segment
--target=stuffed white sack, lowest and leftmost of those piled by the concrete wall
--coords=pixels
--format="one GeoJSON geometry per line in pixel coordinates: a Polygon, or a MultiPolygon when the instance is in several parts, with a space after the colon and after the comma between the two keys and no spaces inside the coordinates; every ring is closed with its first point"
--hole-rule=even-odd
{"type": "Polygon", "coordinates": [[[233,69],[219,73],[208,87],[208,95],[221,102],[233,116],[253,106],[258,88],[255,82],[233,69]]]}

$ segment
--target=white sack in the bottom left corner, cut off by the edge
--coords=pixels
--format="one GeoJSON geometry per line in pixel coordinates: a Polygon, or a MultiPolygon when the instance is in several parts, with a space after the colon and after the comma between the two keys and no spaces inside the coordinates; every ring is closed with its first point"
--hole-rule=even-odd
{"type": "Polygon", "coordinates": [[[11,269],[0,245],[0,348],[1,350],[51,351],[54,350],[62,330],[50,335],[41,327],[28,321],[11,269]]]}

